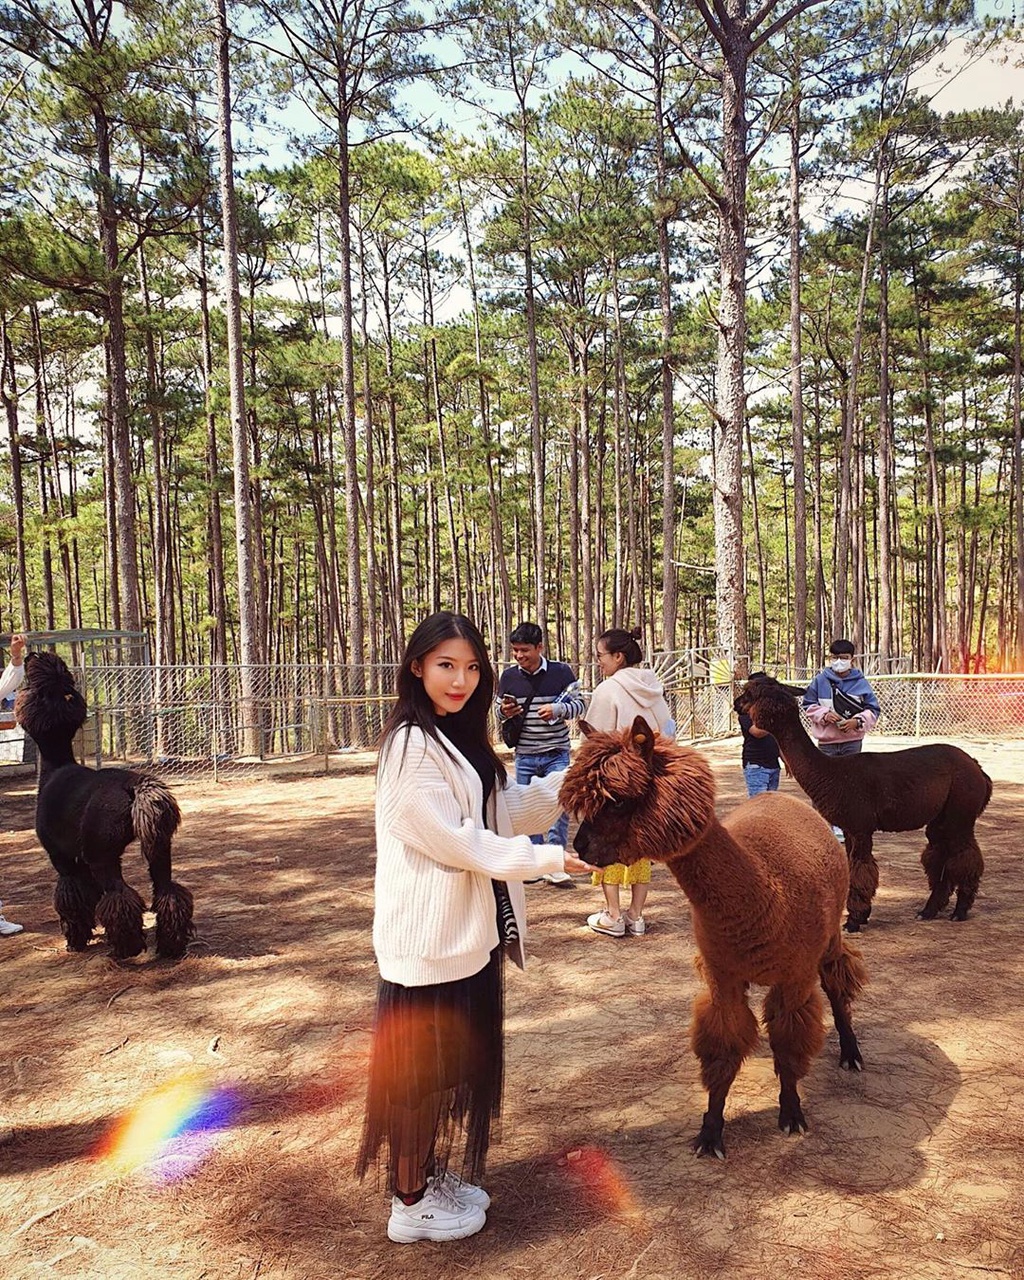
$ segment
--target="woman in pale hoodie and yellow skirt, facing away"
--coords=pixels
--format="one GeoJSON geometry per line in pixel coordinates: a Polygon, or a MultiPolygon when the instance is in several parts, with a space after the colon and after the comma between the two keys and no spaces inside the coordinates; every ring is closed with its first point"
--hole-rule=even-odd
{"type": "MultiPolygon", "coordinates": [[[[598,636],[596,657],[604,680],[594,690],[586,709],[586,722],[605,733],[628,728],[643,716],[655,733],[668,732],[669,713],[664,685],[648,667],[641,667],[643,653],[637,640],[640,627],[623,631],[616,627],[598,636]]],[[[604,890],[604,910],[586,918],[595,933],[621,938],[626,933],[646,933],[644,902],[650,890],[650,859],[641,858],[632,867],[613,863],[594,872],[591,883],[604,890]],[[630,906],[620,905],[620,887],[630,886],[630,906]]]]}

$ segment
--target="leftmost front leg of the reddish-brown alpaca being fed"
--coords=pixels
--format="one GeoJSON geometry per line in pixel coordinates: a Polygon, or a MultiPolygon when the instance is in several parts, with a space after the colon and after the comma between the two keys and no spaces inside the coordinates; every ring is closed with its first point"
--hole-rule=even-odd
{"type": "Polygon", "coordinates": [[[713,987],[696,997],[690,1042],[708,1091],[708,1110],[694,1151],[724,1160],[726,1098],[744,1059],[758,1043],[758,1020],[746,1002],[746,983],[726,991],[713,987]]]}

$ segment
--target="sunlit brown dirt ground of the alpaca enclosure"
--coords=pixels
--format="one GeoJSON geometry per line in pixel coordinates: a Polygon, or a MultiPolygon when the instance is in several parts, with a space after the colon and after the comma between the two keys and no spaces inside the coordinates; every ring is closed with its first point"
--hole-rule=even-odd
{"type": "MultiPolygon", "coordinates": [[[[417,1247],[388,1243],[383,1194],[351,1172],[376,982],[370,760],[178,788],[175,872],[198,925],[180,964],[118,964],[101,938],[65,952],[33,783],[0,783],[0,896],[26,927],[0,938],[0,1272],[1024,1277],[1024,746],[963,745],[996,782],[975,909],[915,920],[923,837],[877,837],[855,1010],[867,1066],[840,1071],[829,1027],[803,1138],[777,1129],[762,1041],[730,1096],[728,1158],[691,1155],[705,1101],[687,1041],[694,942],[663,867],[643,938],[589,932],[598,891],[584,883],[529,887],[494,1204],[480,1235],[417,1247]],[[118,1161],[119,1121],[175,1082],[220,1100],[205,1137],[118,1161]]],[[[742,799],[739,744],[707,754],[722,813],[742,799]]],[[[128,865],[145,892],[133,851],[128,865]]]]}

